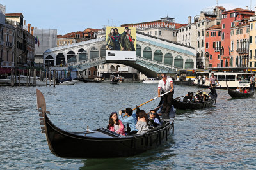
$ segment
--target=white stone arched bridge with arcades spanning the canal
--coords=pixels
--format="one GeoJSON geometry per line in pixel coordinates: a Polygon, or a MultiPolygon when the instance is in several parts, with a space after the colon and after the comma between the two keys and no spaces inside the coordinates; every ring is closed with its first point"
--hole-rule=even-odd
{"type": "Polygon", "coordinates": [[[106,60],[106,37],[50,48],[44,52],[45,66],[68,64],[68,69],[84,71],[105,63],[124,64],[150,78],[156,77],[157,73],[195,68],[196,50],[137,32],[136,61],[106,60]]]}

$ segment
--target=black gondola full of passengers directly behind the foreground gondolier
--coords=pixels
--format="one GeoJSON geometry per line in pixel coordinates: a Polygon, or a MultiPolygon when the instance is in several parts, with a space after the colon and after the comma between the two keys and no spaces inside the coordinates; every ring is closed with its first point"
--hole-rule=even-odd
{"type": "Polygon", "coordinates": [[[214,103],[216,103],[217,99],[217,93],[214,88],[210,89],[211,92],[209,92],[209,100],[206,102],[184,102],[177,99],[172,99],[172,104],[174,108],[180,109],[180,110],[196,110],[196,109],[202,109],[202,108],[211,108],[214,103]]]}

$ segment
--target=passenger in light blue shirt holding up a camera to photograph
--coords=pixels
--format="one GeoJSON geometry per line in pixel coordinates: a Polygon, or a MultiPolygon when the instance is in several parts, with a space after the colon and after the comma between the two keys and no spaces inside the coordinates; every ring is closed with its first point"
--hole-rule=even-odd
{"type": "Polygon", "coordinates": [[[122,110],[119,111],[119,120],[121,120],[122,122],[126,122],[127,123],[127,131],[126,133],[131,135],[131,134],[136,134],[138,132],[138,130],[136,129],[136,116],[132,115],[132,108],[126,108],[124,111],[125,113],[124,116],[122,116],[122,110]],[[127,116],[127,118],[124,118],[125,116],[127,116]]]}

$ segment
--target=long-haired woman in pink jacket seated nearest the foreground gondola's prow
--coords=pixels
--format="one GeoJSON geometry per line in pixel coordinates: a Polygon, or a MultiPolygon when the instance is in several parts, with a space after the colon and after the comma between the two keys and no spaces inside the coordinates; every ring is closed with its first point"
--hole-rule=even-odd
{"type": "Polygon", "coordinates": [[[109,116],[108,129],[125,136],[124,125],[122,121],[118,119],[116,112],[112,112],[109,116]]]}

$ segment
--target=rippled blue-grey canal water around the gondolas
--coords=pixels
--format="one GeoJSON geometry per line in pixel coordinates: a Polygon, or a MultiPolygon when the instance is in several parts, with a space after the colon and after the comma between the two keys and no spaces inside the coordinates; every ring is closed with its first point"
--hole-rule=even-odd
{"type": "MultiPolygon", "coordinates": [[[[178,111],[168,142],[134,157],[62,159],[41,134],[36,88],[45,96],[52,122],[67,131],[106,127],[109,114],[157,96],[157,85],[77,83],[56,87],[0,87],[1,169],[256,169],[256,101],[230,99],[217,90],[216,106],[178,111]]],[[[196,87],[175,85],[174,97],[196,87]]],[[[156,99],[141,106],[149,111],[156,99]]],[[[97,151],[95,151],[97,152],[97,151]]]]}

